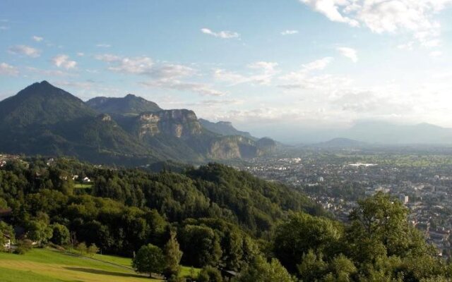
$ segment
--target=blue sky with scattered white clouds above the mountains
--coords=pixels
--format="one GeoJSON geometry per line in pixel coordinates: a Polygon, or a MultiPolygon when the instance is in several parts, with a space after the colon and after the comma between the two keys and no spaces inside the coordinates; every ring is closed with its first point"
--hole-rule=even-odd
{"type": "Polygon", "coordinates": [[[0,99],[47,80],[256,136],[452,128],[452,0],[0,0],[0,99]]]}

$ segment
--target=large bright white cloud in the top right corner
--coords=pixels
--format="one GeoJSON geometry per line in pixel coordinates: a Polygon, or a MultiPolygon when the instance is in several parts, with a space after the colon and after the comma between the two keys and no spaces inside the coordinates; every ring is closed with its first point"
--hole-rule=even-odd
{"type": "Polygon", "coordinates": [[[328,19],[376,33],[409,32],[424,47],[440,44],[434,16],[452,0],[299,0],[328,19]]]}

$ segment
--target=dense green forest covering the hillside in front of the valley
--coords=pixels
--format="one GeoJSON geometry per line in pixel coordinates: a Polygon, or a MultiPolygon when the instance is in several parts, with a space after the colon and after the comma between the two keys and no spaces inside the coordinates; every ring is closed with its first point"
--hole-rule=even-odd
{"type": "Polygon", "coordinates": [[[135,255],[138,270],[153,261],[149,272],[174,281],[166,273],[179,263],[203,268],[196,281],[222,281],[220,270],[239,282],[452,278],[451,264],[388,195],[360,200],[345,224],[296,190],[220,164],[150,173],[65,158],[9,161],[0,211],[1,233],[18,246],[83,243],[135,255]]]}

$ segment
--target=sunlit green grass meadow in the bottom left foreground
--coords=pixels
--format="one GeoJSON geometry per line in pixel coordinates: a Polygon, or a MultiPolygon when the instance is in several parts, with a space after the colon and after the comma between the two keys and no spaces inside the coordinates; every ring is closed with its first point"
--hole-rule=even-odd
{"type": "MultiPolygon", "coordinates": [[[[0,281],[160,281],[136,274],[130,268],[131,259],[107,255],[95,255],[93,258],[79,257],[52,248],[33,249],[25,255],[0,252],[0,281]]],[[[186,271],[184,268],[183,272],[186,271]]]]}

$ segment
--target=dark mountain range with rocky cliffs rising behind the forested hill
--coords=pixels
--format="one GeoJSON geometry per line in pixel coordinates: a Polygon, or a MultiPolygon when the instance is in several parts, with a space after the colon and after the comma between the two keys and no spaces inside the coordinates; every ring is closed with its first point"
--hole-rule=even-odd
{"type": "Polygon", "coordinates": [[[275,150],[273,140],[259,140],[230,123],[207,124],[194,111],[161,109],[133,94],[83,102],[42,81],[0,102],[0,152],[148,164],[257,157],[275,150]],[[229,131],[221,129],[225,124],[229,131]]]}

